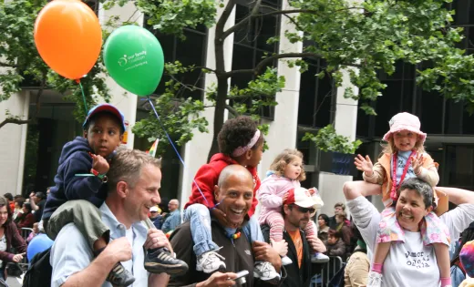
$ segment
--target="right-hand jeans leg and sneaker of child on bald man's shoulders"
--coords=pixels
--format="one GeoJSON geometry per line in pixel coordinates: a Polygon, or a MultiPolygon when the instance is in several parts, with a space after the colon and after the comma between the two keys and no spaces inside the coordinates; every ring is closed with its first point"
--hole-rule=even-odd
{"type": "MultiPolygon", "coordinates": [[[[250,218],[249,222],[243,226],[242,230],[247,239],[251,242],[265,241],[262,229],[260,228],[260,224],[255,216],[250,218]]],[[[253,276],[255,278],[260,278],[264,282],[277,283],[280,281],[280,274],[275,271],[272,263],[268,261],[255,261],[253,266],[253,276]]]]}

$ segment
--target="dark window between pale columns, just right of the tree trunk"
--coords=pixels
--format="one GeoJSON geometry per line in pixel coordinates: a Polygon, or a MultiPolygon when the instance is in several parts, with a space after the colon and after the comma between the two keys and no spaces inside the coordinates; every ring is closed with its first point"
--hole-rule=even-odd
{"type": "MultiPolygon", "coordinates": [[[[252,10],[252,2],[240,0],[236,1],[235,5],[235,23],[239,23],[249,15],[252,10]]],[[[280,8],[279,1],[263,0],[260,13],[269,13],[280,8]]],[[[262,61],[266,54],[276,53],[278,45],[267,44],[267,40],[273,36],[278,36],[280,31],[280,16],[271,15],[264,17],[256,17],[250,21],[248,25],[234,33],[233,38],[233,55],[232,55],[232,70],[249,69],[256,67],[262,61]]],[[[277,61],[273,61],[267,67],[277,67],[277,61]]],[[[263,67],[265,70],[266,67],[263,67]]],[[[254,75],[241,74],[235,75],[231,79],[231,86],[244,88],[249,82],[255,79],[254,75]]],[[[239,100],[240,103],[245,103],[247,106],[252,105],[250,98],[239,100]]],[[[273,119],[274,108],[263,107],[260,110],[260,116],[263,118],[273,119]]]]}

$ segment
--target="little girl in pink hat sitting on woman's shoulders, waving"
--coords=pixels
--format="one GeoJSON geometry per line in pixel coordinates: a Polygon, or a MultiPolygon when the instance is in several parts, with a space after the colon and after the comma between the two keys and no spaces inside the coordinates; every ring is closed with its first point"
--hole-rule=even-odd
{"type": "MultiPolygon", "coordinates": [[[[387,142],[382,156],[373,165],[368,156],[356,157],[356,168],[364,171],[366,182],[382,185],[382,200],[386,209],[382,212],[379,228],[376,232],[376,250],[372,270],[369,273],[369,287],[381,286],[382,266],[392,242],[405,242],[405,231],[397,221],[395,206],[398,200],[397,190],[404,179],[418,178],[435,187],[438,184],[438,163],[425,152],[423,144],[427,134],[420,130],[419,119],[409,113],[399,113],[389,121],[390,130],[385,134],[387,142]]],[[[428,211],[419,229],[425,245],[432,244],[437,257],[441,278],[441,287],[451,285],[449,271],[449,232],[438,215],[447,209],[438,205],[439,196],[434,194],[435,212],[428,211]]],[[[444,200],[447,200],[444,197],[444,200]]],[[[443,200],[443,202],[444,202],[443,200]]],[[[403,212],[402,212],[403,213],[403,212]]],[[[409,216],[402,214],[404,216],[409,216]]]]}

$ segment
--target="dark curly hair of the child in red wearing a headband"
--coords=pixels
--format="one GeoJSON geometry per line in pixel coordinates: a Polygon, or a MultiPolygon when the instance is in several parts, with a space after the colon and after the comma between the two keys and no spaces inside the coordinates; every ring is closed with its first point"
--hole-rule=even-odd
{"type": "MultiPolygon", "coordinates": [[[[249,144],[257,129],[257,124],[250,117],[242,116],[226,120],[219,135],[217,135],[219,151],[226,156],[232,157],[232,152],[235,149],[249,144]]],[[[252,149],[256,149],[262,143],[263,134],[261,133],[260,138],[253,145],[252,149]]]]}

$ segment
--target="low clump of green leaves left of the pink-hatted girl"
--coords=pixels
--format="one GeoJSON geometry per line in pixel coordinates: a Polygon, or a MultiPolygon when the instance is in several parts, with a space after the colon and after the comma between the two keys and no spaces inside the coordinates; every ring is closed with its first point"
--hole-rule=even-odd
{"type": "Polygon", "coordinates": [[[333,125],[328,125],[325,128],[319,129],[316,135],[306,132],[303,140],[313,141],[316,148],[323,151],[335,151],[349,154],[355,153],[356,149],[362,144],[362,141],[358,139],[350,142],[349,138],[336,134],[333,125]]]}

